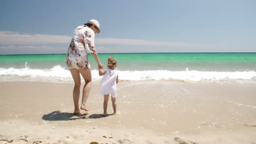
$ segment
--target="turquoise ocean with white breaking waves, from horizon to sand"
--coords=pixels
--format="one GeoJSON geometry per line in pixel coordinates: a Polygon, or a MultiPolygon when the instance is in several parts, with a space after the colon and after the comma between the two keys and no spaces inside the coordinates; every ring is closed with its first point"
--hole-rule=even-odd
{"type": "MultiPolygon", "coordinates": [[[[92,79],[97,64],[89,54],[92,79]]],[[[173,80],[200,83],[256,84],[256,53],[98,53],[118,61],[121,81],[173,80]]],[[[106,67],[106,66],[105,66],[106,67]]],[[[0,81],[73,82],[66,54],[0,55],[0,81]]]]}

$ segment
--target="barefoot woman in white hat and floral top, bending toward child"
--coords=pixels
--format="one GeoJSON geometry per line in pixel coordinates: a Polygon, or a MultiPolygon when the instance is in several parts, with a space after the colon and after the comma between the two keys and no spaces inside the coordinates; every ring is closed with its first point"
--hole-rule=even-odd
{"type": "Polygon", "coordinates": [[[100,23],[97,20],[90,20],[83,26],[78,26],[74,30],[74,35],[68,47],[66,55],[66,63],[72,74],[74,80],[73,101],[74,101],[74,114],[80,113],[81,110],[89,111],[86,106],[86,100],[91,90],[91,69],[87,53],[91,53],[98,64],[98,68],[103,65],[98,59],[97,51],[94,45],[95,33],[100,33],[100,23]],[[85,85],[83,88],[82,104],[79,109],[79,95],[81,79],[80,74],[83,76],[85,85]]]}

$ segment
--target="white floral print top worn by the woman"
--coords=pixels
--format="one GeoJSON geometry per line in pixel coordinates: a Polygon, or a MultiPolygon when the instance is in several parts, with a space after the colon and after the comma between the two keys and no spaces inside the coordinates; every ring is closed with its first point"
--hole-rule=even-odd
{"type": "Polygon", "coordinates": [[[69,69],[86,70],[90,68],[87,53],[97,54],[94,37],[94,31],[88,26],[78,26],[74,30],[74,35],[66,54],[66,64],[69,69]]]}

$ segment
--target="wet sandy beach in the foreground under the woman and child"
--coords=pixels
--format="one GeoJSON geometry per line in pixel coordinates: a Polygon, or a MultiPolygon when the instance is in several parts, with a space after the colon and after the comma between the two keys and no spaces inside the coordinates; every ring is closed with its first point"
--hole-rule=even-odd
{"type": "Polygon", "coordinates": [[[107,117],[99,86],[75,116],[73,83],[0,82],[0,143],[256,143],[256,85],[120,81],[107,117]]]}

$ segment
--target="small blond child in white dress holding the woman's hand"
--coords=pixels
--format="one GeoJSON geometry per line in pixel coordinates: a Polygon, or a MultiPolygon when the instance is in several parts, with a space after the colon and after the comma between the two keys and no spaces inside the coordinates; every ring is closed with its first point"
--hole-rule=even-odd
{"type": "Polygon", "coordinates": [[[107,69],[103,70],[102,68],[100,68],[98,70],[98,74],[100,76],[104,75],[102,77],[100,87],[100,93],[104,95],[103,116],[108,115],[107,107],[109,95],[111,95],[114,114],[117,113],[117,104],[115,104],[115,100],[117,98],[118,71],[115,70],[115,67],[117,67],[117,59],[115,59],[114,57],[108,57],[107,69]]]}

